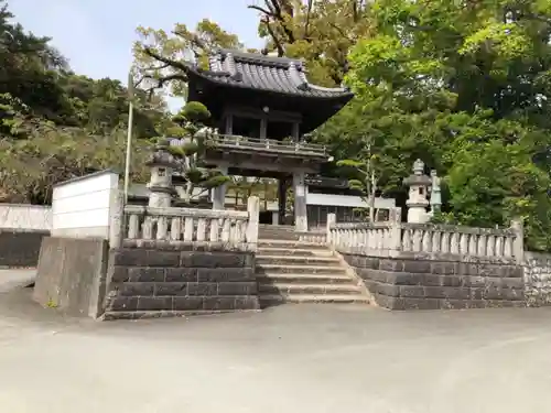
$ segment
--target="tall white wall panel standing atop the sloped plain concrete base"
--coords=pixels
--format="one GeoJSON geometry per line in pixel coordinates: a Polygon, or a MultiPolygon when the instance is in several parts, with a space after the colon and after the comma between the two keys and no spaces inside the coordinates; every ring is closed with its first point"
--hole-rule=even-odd
{"type": "Polygon", "coordinates": [[[109,239],[119,175],[105,171],[61,183],[52,197],[52,235],[109,239]]]}

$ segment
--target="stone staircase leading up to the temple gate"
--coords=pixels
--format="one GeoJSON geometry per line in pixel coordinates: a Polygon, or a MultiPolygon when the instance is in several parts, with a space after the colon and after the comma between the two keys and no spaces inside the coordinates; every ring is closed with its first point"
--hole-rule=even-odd
{"type": "Polygon", "coordinates": [[[260,305],[369,303],[361,283],[324,244],[298,240],[289,227],[261,227],[256,258],[260,305]]]}

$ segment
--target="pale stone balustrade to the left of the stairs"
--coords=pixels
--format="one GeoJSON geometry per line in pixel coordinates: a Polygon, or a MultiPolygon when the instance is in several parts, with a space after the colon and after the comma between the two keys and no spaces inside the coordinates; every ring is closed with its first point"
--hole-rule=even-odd
{"type": "Polygon", "coordinates": [[[154,208],[127,205],[121,239],[131,241],[252,244],[258,239],[258,198],[248,210],[154,208]]]}

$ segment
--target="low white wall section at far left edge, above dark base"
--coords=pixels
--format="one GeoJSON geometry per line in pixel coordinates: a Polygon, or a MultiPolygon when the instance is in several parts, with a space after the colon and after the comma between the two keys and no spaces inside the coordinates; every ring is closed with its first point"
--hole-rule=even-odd
{"type": "Polygon", "coordinates": [[[51,230],[52,208],[37,205],[0,204],[0,229],[51,230]]]}

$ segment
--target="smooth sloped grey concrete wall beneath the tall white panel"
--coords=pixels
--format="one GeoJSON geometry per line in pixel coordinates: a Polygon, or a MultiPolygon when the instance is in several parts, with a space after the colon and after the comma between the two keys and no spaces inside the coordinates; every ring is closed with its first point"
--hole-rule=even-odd
{"type": "Polygon", "coordinates": [[[73,316],[99,316],[108,257],[106,240],[44,238],[34,301],[73,316]]]}

